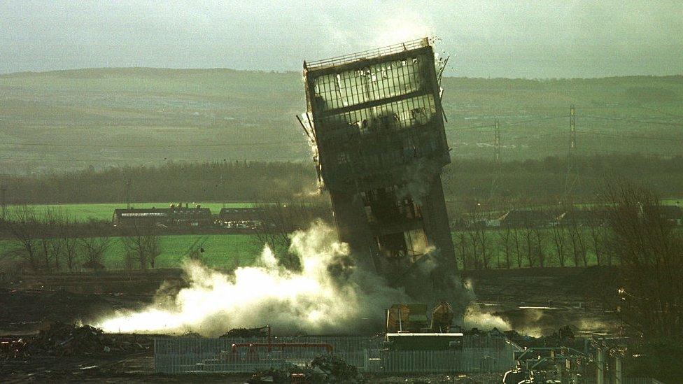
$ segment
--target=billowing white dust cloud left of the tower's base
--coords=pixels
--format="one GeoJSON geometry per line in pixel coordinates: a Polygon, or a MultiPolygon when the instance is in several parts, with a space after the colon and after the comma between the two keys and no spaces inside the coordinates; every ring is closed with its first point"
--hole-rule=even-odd
{"type": "Polygon", "coordinates": [[[234,273],[188,262],[189,287],[142,311],[122,311],[99,321],[107,332],[197,332],[216,336],[237,327],[272,325],[279,332],[345,333],[381,327],[384,309],[411,302],[403,290],[353,266],[348,246],[322,222],[295,232],[290,252],[302,270],[279,266],[265,248],[258,266],[234,273]],[[167,301],[167,304],[162,304],[167,301]]]}

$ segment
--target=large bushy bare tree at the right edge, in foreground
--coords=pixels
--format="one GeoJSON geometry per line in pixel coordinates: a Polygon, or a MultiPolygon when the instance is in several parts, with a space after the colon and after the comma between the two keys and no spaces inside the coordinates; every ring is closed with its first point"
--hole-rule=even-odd
{"type": "Polygon", "coordinates": [[[683,338],[683,236],[653,192],[623,180],[605,193],[607,249],[619,261],[619,314],[640,334],[683,338]]]}

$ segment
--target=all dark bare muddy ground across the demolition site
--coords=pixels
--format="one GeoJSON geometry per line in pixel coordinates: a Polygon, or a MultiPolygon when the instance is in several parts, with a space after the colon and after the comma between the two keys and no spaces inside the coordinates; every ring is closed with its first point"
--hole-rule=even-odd
{"type": "MultiPolygon", "coordinates": [[[[171,278],[177,278],[177,271],[171,278]]],[[[549,334],[563,325],[575,325],[582,332],[616,330],[603,297],[614,290],[610,268],[554,268],[467,271],[463,281],[472,286],[481,311],[500,316],[514,329],[535,335],[549,334]]],[[[141,308],[154,300],[155,290],[149,286],[130,289],[125,278],[98,293],[83,293],[92,278],[83,284],[69,281],[64,285],[11,283],[0,288],[0,335],[17,339],[37,332],[46,323],[59,320],[75,322],[99,318],[122,308],[141,308]],[[74,288],[76,287],[76,288],[74,288]],[[117,289],[117,287],[119,289],[117,289]],[[74,292],[76,291],[76,292],[74,292]]],[[[115,280],[115,279],[114,279],[115,280]]],[[[244,383],[249,375],[210,374],[201,376],[167,376],[153,372],[152,337],[136,336],[148,347],[134,354],[93,354],[84,357],[32,356],[28,360],[0,361],[3,383],[78,382],[78,383],[244,383]]],[[[489,383],[500,382],[498,375],[437,375],[406,377],[373,377],[383,383],[489,383]]]]}

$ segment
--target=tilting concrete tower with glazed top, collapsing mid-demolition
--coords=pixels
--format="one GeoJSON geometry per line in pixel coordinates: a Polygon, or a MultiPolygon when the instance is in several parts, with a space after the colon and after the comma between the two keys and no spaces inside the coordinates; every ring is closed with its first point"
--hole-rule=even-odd
{"type": "Polygon", "coordinates": [[[426,259],[454,273],[440,176],[451,159],[428,39],[304,62],[304,78],[304,129],[339,239],[390,278],[426,259]]]}

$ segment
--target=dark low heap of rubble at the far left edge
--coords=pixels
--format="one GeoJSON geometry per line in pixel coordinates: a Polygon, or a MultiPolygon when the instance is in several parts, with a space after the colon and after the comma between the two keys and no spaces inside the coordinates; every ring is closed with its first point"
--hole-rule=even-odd
{"type": "Polygon", "coordinates": [[[141,343],[124,341],[115,335],[104,334],[101,329],[83,325],[55,322],[29,339],[12,344],[5,358],[25,358],[31,355],[76,356],[92,353],[131,353],[147,350],[141,343]]]}

